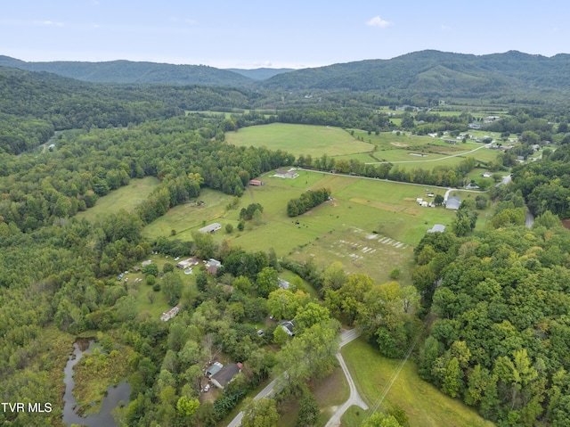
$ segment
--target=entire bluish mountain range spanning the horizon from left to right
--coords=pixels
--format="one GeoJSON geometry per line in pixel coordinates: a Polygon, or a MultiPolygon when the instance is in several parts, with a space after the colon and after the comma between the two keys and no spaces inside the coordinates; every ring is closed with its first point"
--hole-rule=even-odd
{"type": "Polygon", "coordinates": [[[155,62],[23,62],[0,66],[47,71],[89,82],[230,86],[288,91],[358,91],[424,96],[493,97],[570,93],[570,54],[552,57],[509,51],[487,55],[434,50],[390,60],[347,62],[304,70],[221,70],[155,62]]]}

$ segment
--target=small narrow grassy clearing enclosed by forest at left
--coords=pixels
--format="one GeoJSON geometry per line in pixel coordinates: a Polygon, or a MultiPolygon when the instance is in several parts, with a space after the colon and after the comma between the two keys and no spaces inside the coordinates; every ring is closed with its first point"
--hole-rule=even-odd
{"type": "Polygon", "coordinates": [[[156,177],[131,179],[129,185],[99,198],[93,208],[77,212],[77,219],[85,218],[93,221],[97,215],[102,213],[116,213],[120,209],[132,211],[139,203],[146,200],[157,185],[159,185],[159,179],[156,177]]]}

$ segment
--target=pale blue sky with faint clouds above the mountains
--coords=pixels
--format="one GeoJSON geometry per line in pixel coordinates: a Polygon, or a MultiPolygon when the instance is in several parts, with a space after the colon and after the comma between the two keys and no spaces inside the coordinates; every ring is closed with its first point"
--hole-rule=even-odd
{"type": "Polygon", "coordinates": [[[305,68],[436,49],[570,53],[567,0],[2,0],[0,54],[305,68]]]}

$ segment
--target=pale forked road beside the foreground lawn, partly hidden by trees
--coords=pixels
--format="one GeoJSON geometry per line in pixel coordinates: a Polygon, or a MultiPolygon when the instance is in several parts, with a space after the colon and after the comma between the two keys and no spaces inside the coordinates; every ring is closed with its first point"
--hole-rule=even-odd
{"type": "MultiPolygon", "coordinates": [[[[326,427],[339,426],[340,425],[340,417],[346,412],[346,409],[348,409],[352,405],[360,406],[360,407],[362,407],[362,409],[368,409],[368,406],[366,406],[366,404],[364,403],[364,401],[362,400],[362,398],[358,394],[358,391],[356,390],[356,387],[354,386],[354,381],[353,381],[352,377],[350,376],[350,373],[348,372],[348,368],[346,367],[345,360],[342,358],[342,355],[340,354],[340,349],[344,345],[348,344],[350,341],[355,340],[359,336],[360,336],[360,331],[356,331],[354,329],[344,331],[343,333],[340,334],[340,344],[338,345],[339,351],[337,353],[337,358],[338,358],[338,362],[340,362],[340,366],[342,367],[343,372],[346,375],[346,380],[348,381],[348,385],[350,386],[350,397],[348,398],[348,400],[346,400],[345,404],[343,406],[340,406],[338,408],[337,412],[335,412],[335,414],[332,415],[329,423],[326,424],[326,427]],[[333,420],[336,420],[336,421],[333,421],[333,420]]],[[[270,382],[269,384],[267,384],[265,389],[261,390],[259,393],[257,393],[256,397],[253,399],[258,400],[260,398],[267,398],[267,397],[271,396],[273,394],[276,382],[277,382],[277,379],[275,379],[272,382],[270,382]]],[[[239,427],[241,424],[242,418],[243,418],[243,411],[241,411],[240,414],[236,415],[235,418],[233,418],[232,422],[228,424],[228,427],[239,427]]]]}

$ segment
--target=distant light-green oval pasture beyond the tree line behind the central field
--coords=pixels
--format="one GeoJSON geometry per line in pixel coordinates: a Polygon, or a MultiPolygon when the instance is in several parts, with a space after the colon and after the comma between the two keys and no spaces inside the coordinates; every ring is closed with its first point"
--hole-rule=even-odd
{"type": "Polygon", "coordinates": [[[229,144],[265,146],[269,150],[290,152],[296,157],[311,155],[329,157],[371,152],[371,144],[355,140],[346,131],[338,127],[289,125],[273,123],[241,128],[239,132],[225,134],[229,144]]]}

